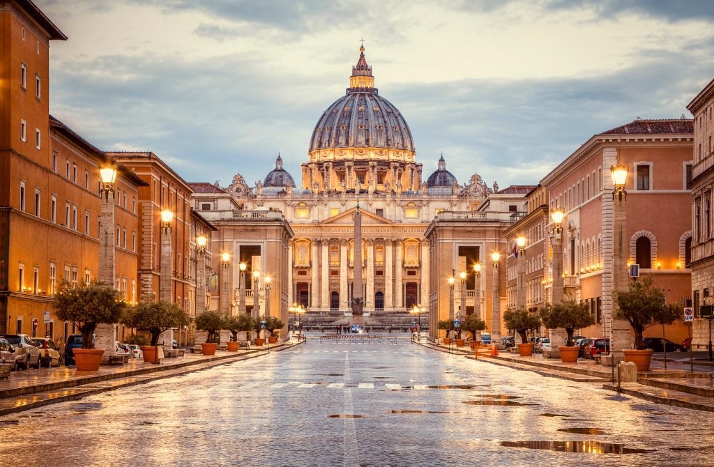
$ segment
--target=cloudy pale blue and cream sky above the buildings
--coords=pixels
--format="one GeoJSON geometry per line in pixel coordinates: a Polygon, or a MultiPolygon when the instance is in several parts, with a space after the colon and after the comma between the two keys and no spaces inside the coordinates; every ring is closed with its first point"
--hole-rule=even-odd
{"type": "Polygon", "coordinates": [[[278,152],[300,184],[318,118],[364,39],[423,177],[538,184],[591,136],[691,118],[714,79],[699,0],[35,0],[50,111],[105,151],[153,151],[188,182],[250,185],[278,152]]]}

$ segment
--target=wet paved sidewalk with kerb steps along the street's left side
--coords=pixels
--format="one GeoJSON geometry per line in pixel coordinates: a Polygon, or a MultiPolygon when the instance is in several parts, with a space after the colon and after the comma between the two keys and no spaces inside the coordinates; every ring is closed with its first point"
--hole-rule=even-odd
{"type": "MultiPolygon", "coordinates": [[[[269,351],[282,351],[294,345],[297,343],[274,343],[269,351]]],[[[77,371],[68,366],[12,371],[9,378],[0,380],[0,416],[267,354],[268,345],[241,348],[237,352],[216,351],[213,356],[186,353],[183,357],[164,358],[161,363],[132,358],[124,365],[102,365],[99,371],[77,371]]]]}

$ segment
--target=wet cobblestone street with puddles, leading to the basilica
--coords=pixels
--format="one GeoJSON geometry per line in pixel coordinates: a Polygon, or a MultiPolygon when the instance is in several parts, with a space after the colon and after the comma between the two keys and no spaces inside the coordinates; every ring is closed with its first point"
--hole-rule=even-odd
{"type": "Polygon", "coordinates": [[[1,417],[0,439],[23,466],[708,466],[714,414],[414,344],[309,343],[1,417]]]}

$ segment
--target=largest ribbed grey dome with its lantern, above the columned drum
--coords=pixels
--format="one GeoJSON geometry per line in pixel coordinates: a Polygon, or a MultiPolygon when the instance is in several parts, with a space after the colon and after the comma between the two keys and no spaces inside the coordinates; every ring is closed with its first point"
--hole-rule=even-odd
{"type": "Polygon", "coordinates": [[[364,58],[364,47],[352,67],[350,87],[318,120],[310,149],[384,148],[414,152],[409,126],[399,110],[378,94],[372,67],[364,58]]]}

